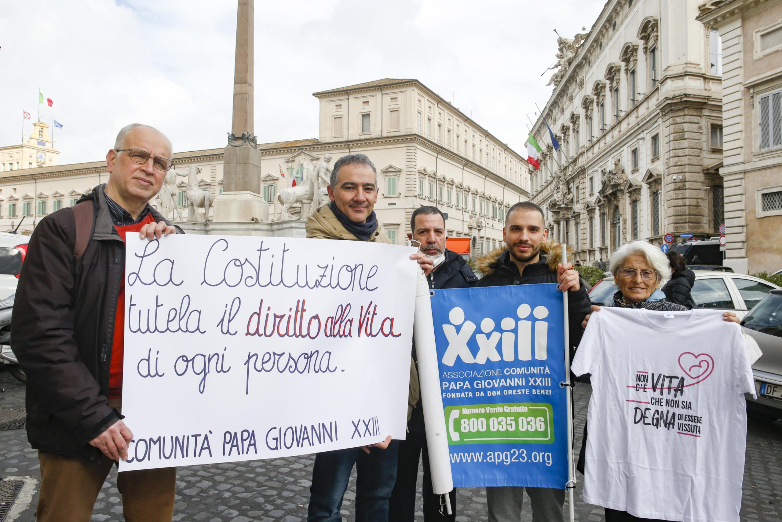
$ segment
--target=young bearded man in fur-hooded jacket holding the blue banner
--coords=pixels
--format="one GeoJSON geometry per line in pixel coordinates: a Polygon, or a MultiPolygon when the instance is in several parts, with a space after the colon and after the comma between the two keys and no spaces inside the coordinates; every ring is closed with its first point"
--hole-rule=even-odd
{"type": "MultiPolygon", "coordinates": [[[[548,231],[543,220],[543,211],[529,201],[516,203],[508,210],[502,229],[505,247],[478,260],[477,269],[483,275],[478,286],[559,283],[559,289],[568,293],[572,350],[583,335],[581,322],[590,313],[590,300],[579,273],[570,263],[562,265],[561,245],[547,242],[548,231]]],[[[486,488],[490,522],[518,522],[524,489],[486,488]]],[[[526,491],[533,506],[533,522],[564,522],[564,488],[526,488],[526,491]]]]}

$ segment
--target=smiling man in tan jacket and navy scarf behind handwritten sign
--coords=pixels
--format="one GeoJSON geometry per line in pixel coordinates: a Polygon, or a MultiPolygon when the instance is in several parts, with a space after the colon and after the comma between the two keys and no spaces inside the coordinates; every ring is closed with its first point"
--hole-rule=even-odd
{"type": "MultiPolygon", "coordinates": [[[[378,171],[366,155],[350,154],[336,161],[329,180],[328,199],[330,203],[307,218],[308,238],[391,243],[375,215],[378,171]]],[[[425,275],[432,271],[430,257],[416,252],[411,259],[418,261],[425,275]]],[[[419,394],[418,373],[411,361],[408,404],[415,404],[419,394]]],[[[410,418],[409,409],[407,418],[410,418]]],[[[355,520],[386,522],[396,481],[398,448],[399,441],[392,441],[389,435],[378,444],[318,453],[312,470],[308,522],[342,520],[339,510],[354,464],[357,466],[355,520]]]]}

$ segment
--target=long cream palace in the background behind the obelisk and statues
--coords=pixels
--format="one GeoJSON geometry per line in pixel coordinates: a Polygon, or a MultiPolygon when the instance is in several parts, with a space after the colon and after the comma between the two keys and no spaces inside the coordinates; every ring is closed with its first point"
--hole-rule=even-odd
{"type": "MultiPolygon", "coordinates": [[[[529,199],[529,165],[520,154],[418,80],[385,78],[314,96],[320,100],[318,138],[258,145],[272,221],[281,218],[278,194],[326,154],[333,166],[343,155],[364,153],[378,169],[378,221],[396,243],[404,243],[421,205],[447,214],[449,236],[472,238],[473,254],[502,243],[505,212],[529,199]]],[[[106,136],[107,150],[113,139],[106,136]]],[[[199,167],[199,187],[219,198],[223,152],[178,152],[174,165],[183,173],[199,167]]],[[[108,177],[105,160],[2,171],[0,228],[13,229],[24,218],[20,230],[30,232],[45,214],[73,205],[108,177]]],[[[185,185],[181,178],[178,203],[186,220],[185,185]]]]}

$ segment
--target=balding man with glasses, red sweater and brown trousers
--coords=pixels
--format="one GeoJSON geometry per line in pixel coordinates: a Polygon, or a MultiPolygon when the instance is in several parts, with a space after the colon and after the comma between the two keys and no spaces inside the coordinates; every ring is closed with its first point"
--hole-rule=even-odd
{"type": "MultiPolygon", "coordinates": [[[[38,522],[87,522],[114,463],[127,460],[121,414],[125,235],[181,233],[149,206],[171,168],[171,142],[131,124],[106,154],[109,182],[48,214],[30,238],[13,311],[27,373],[27,437],[38,449],[38,522]]],[[[175,468],[117,477],[124,518],[170,522],[175,468]]]]}

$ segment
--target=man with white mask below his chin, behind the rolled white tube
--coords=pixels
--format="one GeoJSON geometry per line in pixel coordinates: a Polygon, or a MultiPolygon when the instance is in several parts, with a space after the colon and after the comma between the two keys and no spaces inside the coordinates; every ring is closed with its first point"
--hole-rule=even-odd
{"type": "MultiPolygon", "coordinates": [[[[446,248],[448,239],[445,216],[437,207],[418,207],[410,218],[413,239],[421,243],[419,250],[434,262],[429,274],[429,288],[468,288],[478,283],[478,277],[461,255],[446,248]]],[[[415,357],[415,350],[413,350],[415,357]]],[[[432,491],[429,474],[429,452],[426,448],[426,432],[421,400],[416,403],[407,421],[407,438],[399,444],[399,466],[396,484],[391,495],[389,522],[413,522],[415,520],[415,483],[418,480],[418,461],[424,466],[424,521],[442,522],[456,520],[456,512],[448,515],[439,505],[439,495],[432,491]]],[[[450,505],[456,507],[456,490],[450,492],[450,505]]]]}

